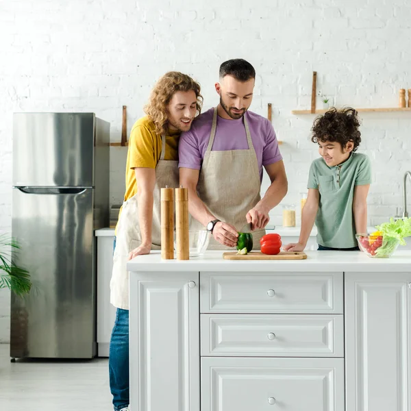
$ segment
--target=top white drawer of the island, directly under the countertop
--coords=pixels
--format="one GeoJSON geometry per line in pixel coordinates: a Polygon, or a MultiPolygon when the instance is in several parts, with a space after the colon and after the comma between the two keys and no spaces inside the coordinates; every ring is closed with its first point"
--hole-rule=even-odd
{"type": "Polygon", "coordinates": [[[343,314],[343,273],[207,273],[202,313],[343,314]]]}

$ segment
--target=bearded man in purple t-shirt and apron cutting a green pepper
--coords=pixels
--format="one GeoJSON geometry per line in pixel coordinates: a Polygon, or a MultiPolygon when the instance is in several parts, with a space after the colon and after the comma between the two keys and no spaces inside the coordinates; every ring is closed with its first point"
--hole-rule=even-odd
{"type": "Polygon", "coordinates": [[[287,192],[287,178],[271,123],[247,111],[256,71],[242,59],[221,64],[215,84],[220,103],[201,114],[179,139],[180,184],[188,188],[192,228],[206,226],[214,249],[234,247],[251,223],[254,243],[264,235],[269,211],[287,192]],[[262,167],[271,186],[260,198],[262,167]],[[196,226],[197,224],[197,226],[196,226]]]}

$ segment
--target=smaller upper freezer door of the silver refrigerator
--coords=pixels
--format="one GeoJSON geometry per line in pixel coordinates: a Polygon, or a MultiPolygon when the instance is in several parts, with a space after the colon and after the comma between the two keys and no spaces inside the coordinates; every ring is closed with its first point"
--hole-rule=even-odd
{"type": "Polygon", "coordinates": [[[13,186],[94,186],[94,141],[94,113],[14,113],[13,186]]]}

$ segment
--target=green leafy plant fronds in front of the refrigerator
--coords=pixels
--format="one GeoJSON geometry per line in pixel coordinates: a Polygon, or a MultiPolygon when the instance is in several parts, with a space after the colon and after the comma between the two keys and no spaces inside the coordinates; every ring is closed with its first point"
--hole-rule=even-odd
{"type": "Polygon", "coordinates": [[[0,236],[0,288],[9,288],[16,295],[28,294],[32,288],[29,272],[12,262],[11,251],[20,249],[13,238],[0,236]]]}

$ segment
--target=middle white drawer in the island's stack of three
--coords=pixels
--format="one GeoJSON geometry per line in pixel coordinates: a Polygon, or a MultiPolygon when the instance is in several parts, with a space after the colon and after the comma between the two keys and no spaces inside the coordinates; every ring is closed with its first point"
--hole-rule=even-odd
{"type": "Polygon", "coordinates": [[[343,315],[201,314],[201,356],[343,357],[343,315]]]}

